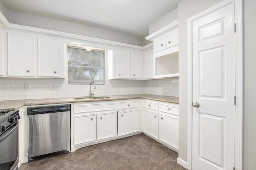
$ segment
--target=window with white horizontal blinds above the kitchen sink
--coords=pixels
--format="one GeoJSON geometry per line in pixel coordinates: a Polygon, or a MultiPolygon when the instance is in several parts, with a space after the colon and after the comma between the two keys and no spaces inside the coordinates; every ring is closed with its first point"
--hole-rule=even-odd
{"type": "Polygon", "coordinates": [[[106,50],[68,46],[68,84],[106,84],[106,50]]]}

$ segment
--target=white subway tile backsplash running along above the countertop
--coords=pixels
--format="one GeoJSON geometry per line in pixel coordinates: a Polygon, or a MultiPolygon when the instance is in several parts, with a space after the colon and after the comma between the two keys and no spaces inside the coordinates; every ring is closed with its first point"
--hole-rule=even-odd
{"type": "MultiPolygon", "coordinates": [[[[0,78],[0,101],[89,96],[89,90],[89,85],[68,85],[66,79],[0,78]],[[30,85],[29,90],[24,89],[25,83],[30,85]],[[53,84],[58,84],[59,89],[53,90],[53,84]]],[[[178,82],[171,79],[107,80],[106,85],[96,85],[92,93],[94,96],[122,94],[178,96],[178,82]]]]}

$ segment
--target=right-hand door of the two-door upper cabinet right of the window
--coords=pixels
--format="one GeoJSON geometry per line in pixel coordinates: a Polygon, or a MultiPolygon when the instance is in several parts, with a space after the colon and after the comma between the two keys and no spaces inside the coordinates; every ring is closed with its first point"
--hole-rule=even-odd
{"type": "Polygon", "coordinates": [[[142,79],[142,51],[131,51],[131,78],[142,79]]]}

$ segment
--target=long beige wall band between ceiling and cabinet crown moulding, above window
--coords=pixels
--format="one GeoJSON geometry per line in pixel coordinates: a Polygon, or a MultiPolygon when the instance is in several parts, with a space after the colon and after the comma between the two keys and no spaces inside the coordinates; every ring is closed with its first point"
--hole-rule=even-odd
{"type": "Polygon", "coordinates": [[[52,18],[36,16],[24,12],[7,10],[6,19],[10,23],[16,23],[20,25],[50,29],[54,31],[62,31],[66,33],[74,33],[78,35],[85,35],[88,37],[143,46],[142,37],[136,37],[134,35],[129,35],[116,31],[109,31],[106,29],[100,29],[96,27],[90,27],[87,25],[72,23],[63,20],[56,20],[52,18]]]}

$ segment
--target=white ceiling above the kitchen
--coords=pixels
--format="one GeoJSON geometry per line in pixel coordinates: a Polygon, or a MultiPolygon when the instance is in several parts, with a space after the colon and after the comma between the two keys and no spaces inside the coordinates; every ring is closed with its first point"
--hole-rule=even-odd
{"type": "Polygon", "coordinates": [[[181,0],[0,0],[8,10],[118,31],[138,37],[181,0]]]}

